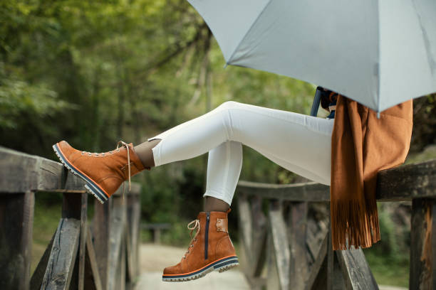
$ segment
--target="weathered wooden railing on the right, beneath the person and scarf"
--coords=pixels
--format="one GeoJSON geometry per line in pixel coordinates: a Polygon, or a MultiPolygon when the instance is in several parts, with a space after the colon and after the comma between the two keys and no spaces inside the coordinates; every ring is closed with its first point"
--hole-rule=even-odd
{"type": "MultiPolygon", "coordinates": [[[[328,216],[328,186],[239,181],[236,196],[251,289],[378,289],[362,249],[333,251],[328,218],[308,215],[328,216]]],[[[412,200],[410,289],[436,289],[436,160],[380,171],[377,200],[412,200]]]]}

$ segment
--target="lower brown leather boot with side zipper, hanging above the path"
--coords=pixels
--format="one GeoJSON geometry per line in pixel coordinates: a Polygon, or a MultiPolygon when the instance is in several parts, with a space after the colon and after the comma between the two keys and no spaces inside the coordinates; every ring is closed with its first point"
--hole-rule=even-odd
{"type": "Polygon", "coordinates": [[[239,265],[227,230],[227,213],[201,212],[188,229],[197,230],[179,264],[164,269],[163,281],[198,279],[212,271],[224,272],[239,265]]]}

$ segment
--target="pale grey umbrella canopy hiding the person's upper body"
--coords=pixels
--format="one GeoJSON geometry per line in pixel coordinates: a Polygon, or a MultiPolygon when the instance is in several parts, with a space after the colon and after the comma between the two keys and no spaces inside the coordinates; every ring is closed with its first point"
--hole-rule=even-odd
{"type": "Polygon", "coordinates": [[[377,112],[436,92],[435,0],[188,0],[229,65],[312,82],[377,112]]]}

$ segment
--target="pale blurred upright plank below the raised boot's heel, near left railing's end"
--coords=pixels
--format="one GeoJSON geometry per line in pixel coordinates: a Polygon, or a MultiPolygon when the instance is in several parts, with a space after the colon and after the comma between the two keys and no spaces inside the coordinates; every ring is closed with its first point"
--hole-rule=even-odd
{"type": "Polygon", "coordinates": [[[108,290],[117,289],[117,274],[120,269],[121,246],[125,229],[125,203],[121,197],[113,198],[113,208],[110,215],[110,239],[108,254],[108,290]]]}

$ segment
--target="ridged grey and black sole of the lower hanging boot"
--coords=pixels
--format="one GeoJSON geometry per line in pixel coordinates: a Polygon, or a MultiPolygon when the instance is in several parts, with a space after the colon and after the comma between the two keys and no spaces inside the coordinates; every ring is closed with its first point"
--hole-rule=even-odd
{"type": "Polygon", "coordinates": [[[199,279],[210,272],[218,271],[222,273],[229,269],[239,266],[239,261],[237,256],[224,257],[215,262],[211,262],[206,266],[194,270],[193,272],[183,273],[183,274],[167,274],[162,275],[162,281],[167,282],[181,282],[199,279]]]}

